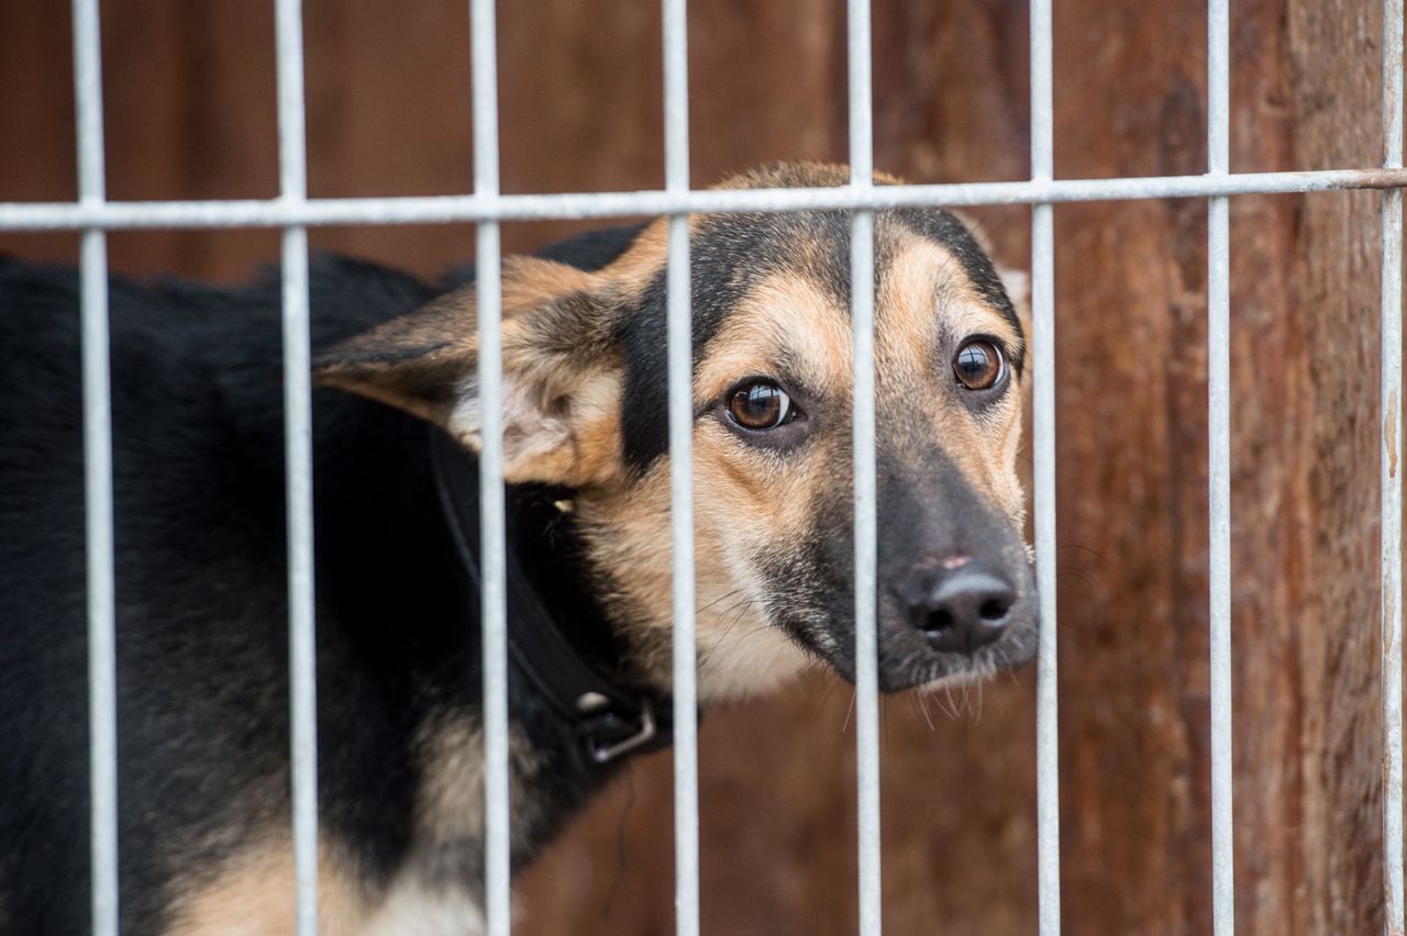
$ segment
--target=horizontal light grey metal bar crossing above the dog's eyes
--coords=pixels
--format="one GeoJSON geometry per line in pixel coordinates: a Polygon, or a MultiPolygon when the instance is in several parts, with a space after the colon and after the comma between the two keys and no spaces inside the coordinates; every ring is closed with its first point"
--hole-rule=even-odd
{"type": "Polygon", "coordinates": [[[837,188],[563,193],[547,195],[429,195],[225,201],[0,202],[0,230],[152,228],[322,228],[433,225],[476,221],[556,221],[725,211],[832,211],[913,205],[1033,205],[1069,201],[1206,198],[1407,187],[1403,169],[1328,169],[1303,173],[1147,176],[837,188]]]}

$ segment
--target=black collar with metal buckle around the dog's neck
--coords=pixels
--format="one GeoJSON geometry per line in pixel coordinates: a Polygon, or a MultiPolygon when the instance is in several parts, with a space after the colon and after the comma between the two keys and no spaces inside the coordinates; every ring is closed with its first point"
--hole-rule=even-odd
{"type": "MultiPolygon", "coordinates": [[[[476,593],[481,593],[478,462],[438,427],[431,427],[429,447],[440,506],[464,572],[476,585],[476,593]]],[[[657,750],[670,743],[670,698],[625,690],[582,659],[552,620],[511,545],[508,651],[518,672],[573,727],[591,760],[604,765],[626,753],[657,750]]]]}

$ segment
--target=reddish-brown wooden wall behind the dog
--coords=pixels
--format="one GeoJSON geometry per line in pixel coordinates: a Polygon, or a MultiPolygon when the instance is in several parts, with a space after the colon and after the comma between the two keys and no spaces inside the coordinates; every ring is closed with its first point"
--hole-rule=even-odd
{"type": "MultiPolygon", "coordinates": [[[[463,0],[305,0],[314,197],[470,190],[463,0]]],[[[689,4],[692,173],[846,157],[841,0],[689,4]]],[[[1027,7],[875,0],[877,166],[1029,173],[1027,7]]],[[[1240,0],[1233,170],[1379,156],[1376,0],[1240,0]]],[[[663,184],[658,8],[498,10],[502,187],[663,184]]],[[[1206,167],[1206,11],[1055,4],[1059,177],[1206,167]]],[[[103,4],[114,200],[277,194],[273,4],[103,4]]],[[[68,4],[0,4],[0,201],[76,194],[68,4]]],[[[971,212],[1029,266],[1029,209],[971,212]]],[[[1057,218],[1062,908],[1069,933],[1210,932],[1206,207],[1057,218]]],[[[1241,933],[1382,926],[1377,197],[1238,197],[1233,219],[1235,876],[1241,933]]],[[[521,223],[507,250],[590,225],[521,223]]],[[[435,277],[469,226],[318,229],[435,277]]],[[[73,235],[0,235],[73,261],[73,235]]],[[[117,232],[115,270],[241,281],[276,232],[117,232]]],[[[884,708],[892,933],[1034,932],[1034,673],[884,708]]],[[[851,689],[813,677],[702,722],[708,933],[850,933],[851,689]]],[[[637,762],[522,880],[515,932],[673,932],[671,762],[637,762]]]]}

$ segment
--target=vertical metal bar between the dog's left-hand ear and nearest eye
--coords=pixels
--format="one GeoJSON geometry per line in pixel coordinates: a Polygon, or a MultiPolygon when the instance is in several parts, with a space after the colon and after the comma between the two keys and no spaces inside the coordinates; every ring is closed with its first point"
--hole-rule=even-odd
{"type": "MultiPolygon", "coordinates": [[[[689,63],[685,0],[664,0],[664,178],[689,188],[689,63]]],[[[674,918],[699,932],[698,646],[694,635],[694,342],[689,218],[670,215],[670,516],[674,562],[674,918]]]]}

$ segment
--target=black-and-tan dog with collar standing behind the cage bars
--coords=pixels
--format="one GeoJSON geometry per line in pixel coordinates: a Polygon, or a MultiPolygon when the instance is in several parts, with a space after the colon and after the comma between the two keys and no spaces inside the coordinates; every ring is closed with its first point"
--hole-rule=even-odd
{"type": "MultiPolygon", "coordinates": [[[[847,180],[775,164],[725,186],[847,180]]],[[[848,212],[689,225],[699,700],[816,662],[853,679],[848,212]]],[[[666,256],[656,221],[502,267],[515,867],[668,741],[666,256]]],[[[471,280],[311,268],[328,933],[483,928],[471,280]]],[[[72,270],[0,261],[7,933],[90,922],[77,306],[72,270]]],[[[287,933],[277,277],[114,277],[110,309],[122,930],[287,933]]],[[[1023,663],[1020,318],[972,232],[933,208],[875,214],[875,315],[879,683],[1023,663]]]]}

